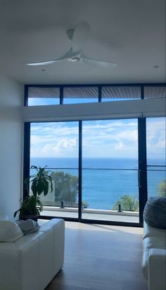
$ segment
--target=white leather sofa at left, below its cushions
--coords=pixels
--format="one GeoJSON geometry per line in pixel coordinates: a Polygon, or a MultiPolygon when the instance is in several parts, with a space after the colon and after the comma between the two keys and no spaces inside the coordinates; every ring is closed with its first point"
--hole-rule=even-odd
{"type": "Polygon", "coordinates": [[[0,290],[44,290],[63,267],[65,222],[51,219],[36,233],[0,243],[0,290]]]}

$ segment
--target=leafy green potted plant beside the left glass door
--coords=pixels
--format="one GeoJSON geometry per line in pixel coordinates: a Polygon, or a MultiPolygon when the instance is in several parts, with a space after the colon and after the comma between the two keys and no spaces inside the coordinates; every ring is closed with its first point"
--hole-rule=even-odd
{"type": "Polygon", "coordinates": [[[36,169],[37,174],[32,174],[25,179],[25,188],[27,189],[28,195],[21,203],[20,209],[14,212],[13,217],[20,212],[19,219],[34,219],[37,221],[37,217],[43,209],[39,195],[41,195],[41,193],[47,195],[47,193],[49,193],[49,188],[51,192],[53,191],[53,182],[49,175],[50,171],[46,171],[45,168],[46,167],[42,168],[32,165],[31,169],[36,169]],[[30,189],[32,191],[31,193],[30,189]]]}

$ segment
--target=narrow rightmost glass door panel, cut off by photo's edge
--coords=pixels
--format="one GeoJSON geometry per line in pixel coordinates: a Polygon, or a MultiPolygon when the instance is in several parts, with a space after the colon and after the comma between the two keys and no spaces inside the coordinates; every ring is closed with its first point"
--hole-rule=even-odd
{"type": "Polygon", "coordinates": [[[165,129],[165,118],[146,120],[148,198],[166,197],[165,129]]]}

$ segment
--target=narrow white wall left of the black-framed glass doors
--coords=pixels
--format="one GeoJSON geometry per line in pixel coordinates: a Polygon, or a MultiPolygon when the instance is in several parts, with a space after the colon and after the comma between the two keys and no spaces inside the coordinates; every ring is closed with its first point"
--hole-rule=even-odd
{"type": "Polygon", "coordinates": [[[22,191],[23,85],[0,77],[0,214],[13,216],[22,191]]]}

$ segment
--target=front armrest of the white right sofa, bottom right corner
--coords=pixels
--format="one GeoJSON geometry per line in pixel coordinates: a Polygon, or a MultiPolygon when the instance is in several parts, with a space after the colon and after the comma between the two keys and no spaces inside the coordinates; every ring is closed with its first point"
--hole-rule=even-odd
{"type": "Polygon", "coordinates": [[[166,289],[166,252],[165,249],[152,248],[148,260],[148,290],[166,289]]]}

